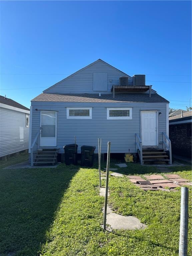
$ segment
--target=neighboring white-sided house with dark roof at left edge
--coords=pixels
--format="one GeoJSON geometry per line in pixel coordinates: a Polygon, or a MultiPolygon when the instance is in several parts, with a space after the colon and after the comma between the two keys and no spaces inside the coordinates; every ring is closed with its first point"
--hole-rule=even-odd
{"type": "Polygon", "coordinates": [[[0,95],[0,157],[29,147],[29,109],[0,95]]]}

